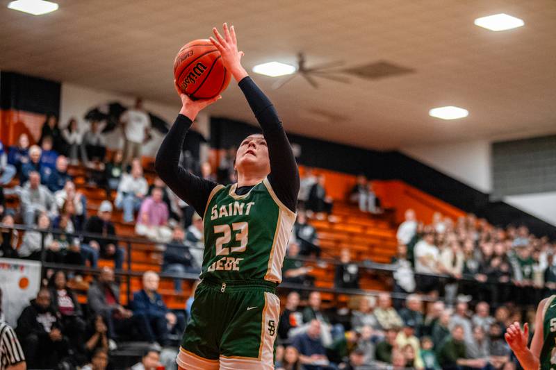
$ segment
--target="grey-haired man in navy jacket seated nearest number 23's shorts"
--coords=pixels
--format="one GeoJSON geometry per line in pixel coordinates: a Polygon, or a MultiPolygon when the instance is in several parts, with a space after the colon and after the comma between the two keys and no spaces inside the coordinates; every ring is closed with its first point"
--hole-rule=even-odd
{"type": "Polygon", "coordinates": [[[147,271],[143,274],[143,289],[133,294],[133,315],[142,317],[148,323],[148,341],[157,341],[162,346],[170,344],[168,335],[174,329],[177,333],[185,330],[185,318],[183,315],[176,315],[166,307],[162,296],[156,292],[160,278],[154,271],[147,271]]]}

